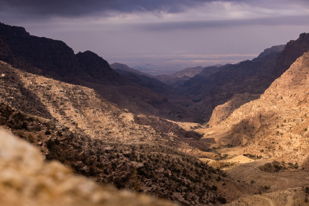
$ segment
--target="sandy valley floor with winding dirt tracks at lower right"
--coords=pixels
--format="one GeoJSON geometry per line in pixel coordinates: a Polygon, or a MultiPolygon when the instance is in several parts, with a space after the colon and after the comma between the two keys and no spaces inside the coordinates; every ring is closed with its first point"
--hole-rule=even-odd
{"type": "MultiPolygon", "coordinates": [[[[197,128],[195,131],[203,135],[199,141],[203,142],[208,148],[226,145],[226,140],[229,138],[225,128],[221,125],[215,128],[197,128]]],[[[201,142],[199,145],[203,145],[201,142]]],[[[191,141],[191,145],[194,146],[197,143],[191,141]]],[[[308,172],[301,169],[264,172],[259,169],[259,166],[273,162],[273,160],[265,158],[255,160],[248,158],[243,156],[245,149],[245,146],[223,147],[213,150],[213,157],[208,155],[207,158],[200,158],[201,161],[208,162],[209,165],[214,167],[227,165],[222,170],[225,170],[231,179],[239,183],[260,188],[258,193],[234,200],[226,205],[309,206],[309,201],[306,202],[309,199],[309,194],[305,192],[305,188],[309,187],[308,172]],[[226,158],[221,160],[216,159],[217,161],[214,160],[214,158],[218,158],[218,154],[226,154],[226,158]]]]}

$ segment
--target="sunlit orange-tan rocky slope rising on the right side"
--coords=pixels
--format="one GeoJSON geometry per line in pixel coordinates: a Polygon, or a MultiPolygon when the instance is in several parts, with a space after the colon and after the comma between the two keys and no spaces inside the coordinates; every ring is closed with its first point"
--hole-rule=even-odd
{"type": "Polygon", "coordinates": [[[280,161],[308,162],[309,53],[304,53],[260,99],[236,109],[225,121],[233,144],[280,161]],[[266,149],[265,149],[266,148],[266,149]]]}

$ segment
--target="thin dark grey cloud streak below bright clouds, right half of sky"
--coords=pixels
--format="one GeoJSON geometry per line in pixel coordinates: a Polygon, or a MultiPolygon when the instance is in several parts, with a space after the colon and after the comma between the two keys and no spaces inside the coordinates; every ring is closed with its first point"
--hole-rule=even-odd
{"type": "Polygon", "coordinates": [[[307,25],[309,15],[302,16],[280,16],[264,17],[256,19],[228,19],[228,20],[206,20],[206,21],[182,21],[165,23],[139,24],[136,28],[145,31],[168,31],[175,29],[200,29],[209,27],[234,27],[234,26],[253,26],[253,25],[307,25]]]}

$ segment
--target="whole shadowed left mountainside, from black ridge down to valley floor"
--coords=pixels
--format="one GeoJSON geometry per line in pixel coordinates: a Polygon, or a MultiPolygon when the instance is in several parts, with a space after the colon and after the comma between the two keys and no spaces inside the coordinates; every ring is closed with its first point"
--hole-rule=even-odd
{"type": "MultiPolygon", "coordinates": [[[[31,36],[22,27],[3,23],[0,23],[0,46],[0,60],[34,74],[94,88],[104,98],[137,115],[180,120],[179,114],[184,113],[192,121],[199,118],[193,109],[170,101],[167,98],[170,91],[164,94],[163,85],[157,85],[159,82],[131,78],[132,82],[91,51],[75,55],[62,41],[31,36]]],[[[173,95],[180,99],[177,93],[173,95]]],[[[187,102],[190,103],[190,100],[187,99],[187,102]]]]}

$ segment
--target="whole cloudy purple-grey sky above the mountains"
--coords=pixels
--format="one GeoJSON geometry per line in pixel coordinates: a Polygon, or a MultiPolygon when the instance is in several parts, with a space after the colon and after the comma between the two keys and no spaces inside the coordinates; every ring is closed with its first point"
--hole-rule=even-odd
{"type": "Polygon", "coordinates": [[[110,64],[237,63],[309,32],[308,0],[0,0],[0,22],[110,64]]]}

